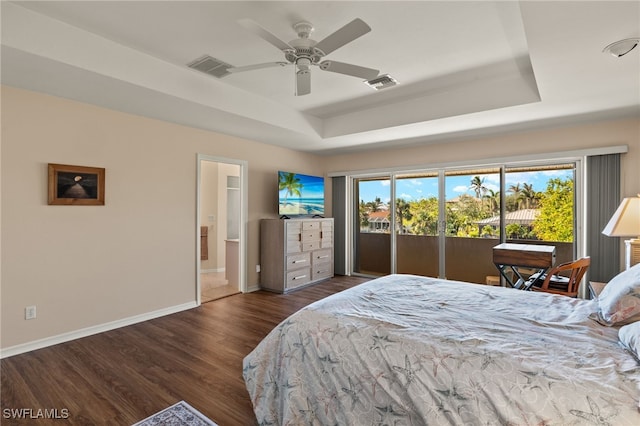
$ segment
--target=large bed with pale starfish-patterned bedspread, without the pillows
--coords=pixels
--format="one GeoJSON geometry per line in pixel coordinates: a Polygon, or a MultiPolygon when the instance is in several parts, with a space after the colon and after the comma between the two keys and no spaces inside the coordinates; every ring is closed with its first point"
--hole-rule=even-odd
{"type": "Polygon", "coordinates": [[[640,364],[598,303],[385,276],[287,318],[243,376],[259,424],[638,425],[640,364]]]}

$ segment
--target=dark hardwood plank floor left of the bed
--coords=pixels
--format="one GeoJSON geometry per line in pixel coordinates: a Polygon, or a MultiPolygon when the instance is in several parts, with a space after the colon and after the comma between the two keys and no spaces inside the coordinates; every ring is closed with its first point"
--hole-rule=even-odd
{"type": "Polygon", "coordinates": [[[3,359],[0,424],[131,425],[185,400],[220,426],[255,425],[243,358],[293,312],[365,281],[340,276],[288,295],[238,294],[3,359]],[[12,417],[38,410],[66,418],[12,417]]]}

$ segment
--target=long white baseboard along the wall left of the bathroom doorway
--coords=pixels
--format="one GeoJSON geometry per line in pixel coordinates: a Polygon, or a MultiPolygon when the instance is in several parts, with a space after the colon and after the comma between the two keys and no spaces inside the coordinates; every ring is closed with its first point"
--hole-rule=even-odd
{"type": "Polygon", "coordinates": [[[136,324],[143,321],[148,321],[154,318],[163,317],[165,315],[175,314],[177,312],[186,311],[187,309],[192,309],[197,306],[198,305],[196,304],[196,302],[187,302],[181,305],[170,306],[168,308],[158,309],[157,311],[147,312],[145,314],[134,315],[132,317],[123,318],[123,319],[108,322],[105,324],[83,328],[81,330],[58,334],[57,336],[45,337],[44,339],[38,339],[32,342],[21,343],[19,345],[11,346],[6,349],[0,349],[0,359],[7,358],[14,355],[19,355],[29,351],[34,351],[36,349],[46,348],[47,346],[53,346],[59,343],[69,342],[71,340],[79,339],[81,337],[87,337],[93,334],[98,334],[98,333],[102,333],[109,330],[115,330],[116,328],[126,327],[128,325],[136,324]]]}

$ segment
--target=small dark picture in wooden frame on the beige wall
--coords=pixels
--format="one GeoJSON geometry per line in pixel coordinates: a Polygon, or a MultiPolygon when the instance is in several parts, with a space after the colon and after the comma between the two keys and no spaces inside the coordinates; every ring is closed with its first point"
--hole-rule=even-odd
{"type": "Polygon", "coordinates": [[[103,206],[104,169],[49,163],[49,204],[103,206]]]}

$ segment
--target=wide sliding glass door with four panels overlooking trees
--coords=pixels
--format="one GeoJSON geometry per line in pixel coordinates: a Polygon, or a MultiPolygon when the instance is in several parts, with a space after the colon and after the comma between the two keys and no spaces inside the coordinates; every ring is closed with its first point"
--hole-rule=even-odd
{"type": "Polygon", "coordinates": [[[352,272],[486,283],[501,242],[575,258],[576,164],[391,173],[353,180],[352,272]]]}

